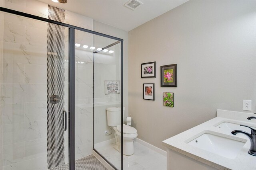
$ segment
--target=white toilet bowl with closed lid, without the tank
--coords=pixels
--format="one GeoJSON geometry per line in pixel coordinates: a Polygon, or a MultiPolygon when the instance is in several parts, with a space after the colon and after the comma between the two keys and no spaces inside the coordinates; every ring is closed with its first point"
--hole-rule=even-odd
{"type": "MultiPolygon", "coordinates": [[[[121,152],[121,125],[113,127],[115,131],[116,145],[114,148],[121,152]]],[[[133,139],[138,136],[137,130],[134,127],[123,125],[123,154],[132,155],[134,154],[133,139]]]]}

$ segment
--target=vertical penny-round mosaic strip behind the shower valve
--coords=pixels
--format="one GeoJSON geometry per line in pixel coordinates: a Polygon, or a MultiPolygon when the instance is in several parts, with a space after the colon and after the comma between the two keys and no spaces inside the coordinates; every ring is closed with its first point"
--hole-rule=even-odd
{"type": "MultiPolygon", "coordinates": [[[[48,19],[64,22],[65,11],[48,5],[48,19]]],[[[64,26],[48,23],[47,35],[47,163],[48,169],[64,164],[64,26]],[[58,104],[50,103],[60,96],[58,104]]]]}

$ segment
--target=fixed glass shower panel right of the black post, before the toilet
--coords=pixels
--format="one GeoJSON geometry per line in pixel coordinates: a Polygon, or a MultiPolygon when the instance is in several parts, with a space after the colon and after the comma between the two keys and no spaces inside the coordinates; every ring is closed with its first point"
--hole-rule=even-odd
{"type": "Polygon", "coordinates": [[[115,141],[114,133],[105,133],[110,128],[107,125],[106,108],[121,104],[121,42],[79,30],[75,30],[74,41],[75,167],[93,169],[94,162],[94,168],[106,170],[93,155],[96,149],[112,166],[121,169],[120,152],[112,150],[114,154],[108,155],[102,150],[102,147],[112,147],[111,142],[115,141]],[[116,88],[108,93],[107,85],[115,85],[116,88]]]}

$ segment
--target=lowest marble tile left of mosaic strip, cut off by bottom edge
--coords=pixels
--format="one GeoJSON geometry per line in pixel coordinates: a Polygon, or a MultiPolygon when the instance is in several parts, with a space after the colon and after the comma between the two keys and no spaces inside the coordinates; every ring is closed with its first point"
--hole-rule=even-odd
{"type": "Polygon", "coordinates": [[[4,170],[47,170],[47,156],[18,162],[3,167],[4,170]]]}

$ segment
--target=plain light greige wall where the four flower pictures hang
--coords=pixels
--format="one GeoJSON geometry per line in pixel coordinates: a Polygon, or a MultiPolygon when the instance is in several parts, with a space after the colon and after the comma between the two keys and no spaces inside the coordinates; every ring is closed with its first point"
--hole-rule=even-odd
{"type": "Polygon", "coordinates": [[[256,112],[256,1],[188,1],[129,32],[129,111],[138,138],[162,141],[216,117],[216,109],[256,112]],[[156,78],[140,64],[156,61],[156,78]],[[178,64],[178,87],[160,87],[160,66],[178,64]],[[143,100],[155,83],[155,101],[143,100]],[[174,92],[174,107],[163,106],[174,92]]]}

